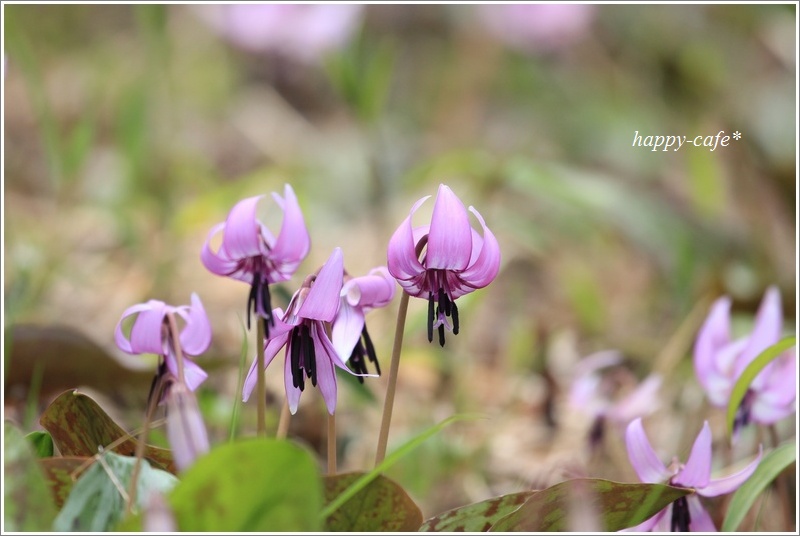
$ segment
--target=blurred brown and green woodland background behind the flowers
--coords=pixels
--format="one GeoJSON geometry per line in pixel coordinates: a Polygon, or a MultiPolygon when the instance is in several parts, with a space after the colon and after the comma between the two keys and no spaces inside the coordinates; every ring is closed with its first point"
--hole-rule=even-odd
{"type": "MultiPolygon", "coordinates": [[[[35,429],[79,387],[138,427],[155,362],[123,355],[114,327],[130,305],[198,292],[214,330],[198,395],[226,441],[240,355],[251,360],[249,289],[200,263],[211,227],[239,199],[292,185],[312,249],[275,294],[284,306],[334,247],[351,274],[385,264],[411,205],[446,183],[503,259],[459,300],[461,333],[443,349],[411,301],[390,450],[454,413],[482,415],[391,470],[426,517],[575,476],[635,481],[622,428],[598,447],[591,409],[569,403],[576,364],[602,350],[622,357],[612,396],[662,375],[647,420],[662,459],[685,459],[706,418],[721,445],[722,411],[691,361],[711,302],[731,296],[746,333],[776,285],[787,333],[796,321],[795,11],[4,5],[6,417],[35,429]],[[741,139],[654,152],[632,146],[637,131],[741,139]]],[[[269,198],[260,209],[279,224],[269,198]]],[[[384,370],[396,311],[397,298],[367,317],[384,370]]],[[[280,371],[267,371],[272,427],[280,371]]],[[[385,381],[340,377],[340,470],[371,467],[385,381]]],[[[244,406],[239,436],[254,413],[244,406]]],[[[290,434],[323,460],[324,430],[307,389],[290,434]]],[[[750,459],[753,434],[715,469],[750,459]]]]}

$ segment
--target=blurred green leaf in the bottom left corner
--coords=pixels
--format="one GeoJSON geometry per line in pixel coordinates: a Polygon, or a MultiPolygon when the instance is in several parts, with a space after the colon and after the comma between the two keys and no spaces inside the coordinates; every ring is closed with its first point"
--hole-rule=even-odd
{"type": "Polygon", "coordinates": [[[4,428],[4,531],[49,531],[56,507],[42,469],[22,432],[8,421],[4,428]]]}

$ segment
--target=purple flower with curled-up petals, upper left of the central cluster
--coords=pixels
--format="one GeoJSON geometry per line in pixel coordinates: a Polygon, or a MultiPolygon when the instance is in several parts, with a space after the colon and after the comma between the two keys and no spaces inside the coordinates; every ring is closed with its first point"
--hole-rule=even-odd
{"type": "Polygon", "coordinates": [[[269,326],[275,325],[269,285],[292,277],[308,255],[311,239],[291,186],[287,184],[284,188],[284,197],[272,194],[283,210],[283,222],[277,239],[256,218],[256,205],[263,197],[249,197],[234,205],[228,219],[211,229],[200,259],[214,274],[250,283],[247,327],[250,327],[252,310],[264,319],[264,332],[269,335],[269,326]],[[219,231],[222,231],[222,244],[219,251],[214,253],[211,240],[219,231]]]}

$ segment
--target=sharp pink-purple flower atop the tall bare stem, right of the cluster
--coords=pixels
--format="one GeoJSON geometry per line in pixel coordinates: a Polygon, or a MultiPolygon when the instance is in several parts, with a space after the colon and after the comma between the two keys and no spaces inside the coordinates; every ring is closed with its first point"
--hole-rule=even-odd
{"type": "Polygon", "coordinates": [[[444,184],[439,185],[430,225],[412,227],[411,217],[429,197],[414,204],[392,235],[388,267],[403,290],[428,299],[428,340],[433,341],[433,330],[438,328],[439,344],[444,346],[445,327],[458,335],[455,300],[494,280],[500,269],[500,246],[483,217],[469,207],[483,237],[472,229],[464,204],[444,184]]]}

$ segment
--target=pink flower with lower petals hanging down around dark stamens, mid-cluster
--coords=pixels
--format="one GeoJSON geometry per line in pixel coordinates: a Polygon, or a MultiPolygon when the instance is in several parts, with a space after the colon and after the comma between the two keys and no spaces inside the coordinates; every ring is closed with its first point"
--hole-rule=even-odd
{"type": "MultiPolygon", "coordinates": [[[[273,311],[275,328],[264,348],[264,366],[268,367],[281,348],[286,347],[284,384],[292,414],[297,411],[306,378],[319,386],[328,412],[336,411],[336,374],[334,366],[352,374],[328,337],[330,322],[339,310],[344,265],[342,250],[334,249],[316,275],[303,282],[289,302],[286,312],[273,311]]],[[[244,382],[247,401],[256,385],[258,360],[253,362],[244,382]]]]}

